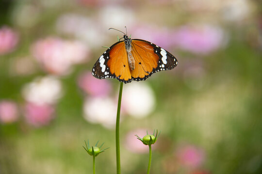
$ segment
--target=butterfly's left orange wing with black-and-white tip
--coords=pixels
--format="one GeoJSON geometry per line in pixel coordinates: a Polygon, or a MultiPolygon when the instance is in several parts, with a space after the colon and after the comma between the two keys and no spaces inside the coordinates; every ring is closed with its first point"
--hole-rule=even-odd
{"type": "Polygon", "coordinates": [[[116,78],[120,82],[131,82],[125,43],[120,41],[108,48],[95,63],[92,74],[98,79],[116,78]]]}

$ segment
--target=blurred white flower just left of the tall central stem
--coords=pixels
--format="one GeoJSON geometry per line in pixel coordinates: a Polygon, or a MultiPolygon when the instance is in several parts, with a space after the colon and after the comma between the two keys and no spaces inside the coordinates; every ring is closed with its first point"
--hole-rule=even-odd
{"type": "Polygon", "coordinates": [[[83,105],[84,118],[91,123],[112,128],[116,120],[116,103],[109,97],[87,98],[83,105]]]}

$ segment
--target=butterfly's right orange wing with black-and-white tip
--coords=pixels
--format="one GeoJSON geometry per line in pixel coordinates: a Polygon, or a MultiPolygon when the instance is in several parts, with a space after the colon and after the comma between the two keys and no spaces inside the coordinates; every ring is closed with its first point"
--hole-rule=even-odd
{"type": "Polygon", "coordinates": [[[163,48],[140,39],[133,39],[132,55],[135,69],[131,71],[131,80],[146,80],[159,71],[171,70],[178,65],[178,60],[163,48]]]}

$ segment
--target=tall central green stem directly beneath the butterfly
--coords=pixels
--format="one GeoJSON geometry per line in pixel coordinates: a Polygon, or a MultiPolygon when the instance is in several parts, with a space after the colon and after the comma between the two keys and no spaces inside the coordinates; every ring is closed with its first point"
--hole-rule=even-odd
{"type": "Polygon", "coordinates": [[[120,170],[120,140],[119,140],[119,123],[120,123],[120,108],[122,99],[123,82],[120,82],[116,123],[115,123],[115,148],[116,148],[116,174],[121,174],[120,170]]]}

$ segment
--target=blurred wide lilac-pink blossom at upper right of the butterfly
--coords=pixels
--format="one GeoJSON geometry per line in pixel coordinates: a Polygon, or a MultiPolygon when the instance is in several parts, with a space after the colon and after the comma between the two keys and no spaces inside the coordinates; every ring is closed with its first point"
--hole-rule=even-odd
{"type": "Polygon", "coordinates": [[[171,36],[180,49],[196,54],[208,54],[227,41],[221,28],[215,26],[182,26],[171,36]]]}

